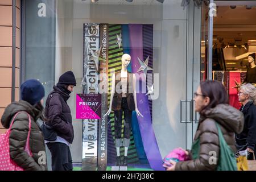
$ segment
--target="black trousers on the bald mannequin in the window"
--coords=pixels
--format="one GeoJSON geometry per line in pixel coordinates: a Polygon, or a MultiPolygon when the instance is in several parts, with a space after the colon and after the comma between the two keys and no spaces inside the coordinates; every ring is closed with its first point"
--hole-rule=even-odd
{"type": "Polygon", "coordinates": [[[131,135],[131,115],[133,111],[128,109],[127,98],[122,98],[121,110],[114,111],[115,115],[115,138],[121,138],[122,134],[122,117],[125,114],[125,128],[123,138],[130,139],[131,135]]]}

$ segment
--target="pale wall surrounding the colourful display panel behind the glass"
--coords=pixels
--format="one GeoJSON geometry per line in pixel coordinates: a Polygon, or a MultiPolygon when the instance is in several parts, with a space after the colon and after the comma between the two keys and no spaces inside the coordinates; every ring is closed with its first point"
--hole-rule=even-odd
{"type": "MultiPolygon", "coordinates": [[[[60,1],[58,1],[60,2],[60,1]]],[[[72,70],[81,93],[83,23],[154,24],[154,73],[159,73],[159,98],[153,102],[153,125],[162,157],[175,147],[185,147],[185,125],[180,123],[180,100],[186,97],[187,10],[181,0],[165,5],[88,5],[62,1],[57,21],[56,78],[72,70]],[[118,7],[118,8],[117,8],[118,7]],[[126,14],[117,14],[118,12],[126,14]]],[[[191,68],[192,69],[192,68],[191,68]]],[[[56,80],[57,81],[57,80],[56,80]]],[[[75,119],[75,93],[69,99],[75,140],[74,162],[81,162],[82,122],[75,119]]]]}

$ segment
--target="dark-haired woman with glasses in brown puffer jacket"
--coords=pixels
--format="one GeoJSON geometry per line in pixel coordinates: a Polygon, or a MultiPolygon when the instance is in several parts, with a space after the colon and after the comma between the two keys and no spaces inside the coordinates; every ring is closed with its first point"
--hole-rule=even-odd
{"type": "MultiPolygon", "coordinates": [[[[202,81],[194,94],[195,110],[200,113],[199,126],[193,140],[192,150],[185,151],[191,160],[171,161],[168,171],[220,170],[220,141],[225,140],[226,148],[232,155],[236,152],[234,133],[243,129],[243,114],[228,105],[224,86],[218,81],[202,81]],[[221,138],[223,138],[221,140],[221,138]],[[197,146],[197,147],[195,147],[197,146]]],[[[223,155],[223,152],[222,152],[223,155]]],[[[233,156],[232,163],[236,166],[233,156]]],[[[236,168],[233,168],[236,170],[236,168]]]]}

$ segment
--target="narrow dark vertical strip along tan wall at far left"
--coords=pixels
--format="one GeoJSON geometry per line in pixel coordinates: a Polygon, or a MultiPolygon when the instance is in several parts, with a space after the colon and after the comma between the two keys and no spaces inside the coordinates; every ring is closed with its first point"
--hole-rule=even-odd
{"type": "Polygon", "coordinates": [[[11,75],[11,102],[15,101],[15,66],[16,66],[16,0],[12,0],[12,75],[11,75]]]}

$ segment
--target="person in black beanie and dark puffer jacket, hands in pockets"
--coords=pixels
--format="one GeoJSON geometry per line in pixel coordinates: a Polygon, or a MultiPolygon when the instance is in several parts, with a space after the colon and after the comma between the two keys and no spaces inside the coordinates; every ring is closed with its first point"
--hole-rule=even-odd
{"type": "Polygon", "coordinates": [[[52,126],[57,137],[45,139],[52,155],[52,171],[71,171],[73,169],[69,145],[74,139],[71,110],[67,104],[76,86],[76,78],[72,71],[63,73],[59,82],[53,86],[46,100],[46,125],[52,126]]]}

